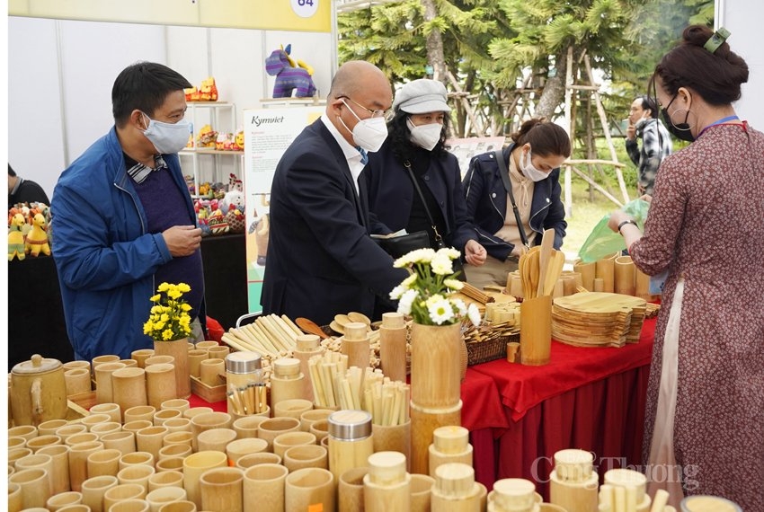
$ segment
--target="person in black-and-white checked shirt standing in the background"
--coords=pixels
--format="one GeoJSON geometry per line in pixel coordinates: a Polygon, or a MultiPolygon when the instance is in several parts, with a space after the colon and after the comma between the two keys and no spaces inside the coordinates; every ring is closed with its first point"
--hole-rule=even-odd
{"type": "Polygon", "coordinates": [[[661,119],[653,98],[640,96],[631,104],[626,128],[626,153],[636,165],[637,190],[640,195],[653,195],[658,167],[671,154],[671,137],[661,119]],[[642,139],[642,149],[637,139],[642,139]]]}

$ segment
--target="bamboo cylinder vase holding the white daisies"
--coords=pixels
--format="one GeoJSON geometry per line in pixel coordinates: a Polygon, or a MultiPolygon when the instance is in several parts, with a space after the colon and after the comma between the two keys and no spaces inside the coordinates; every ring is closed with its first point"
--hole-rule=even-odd
{"type": "Polygon", "coordinates": [[[459,354],[463,339],[459,324],[413,323],[411,337],[412,404],[429,409],[455,407],[461,397],[459,354]]]}

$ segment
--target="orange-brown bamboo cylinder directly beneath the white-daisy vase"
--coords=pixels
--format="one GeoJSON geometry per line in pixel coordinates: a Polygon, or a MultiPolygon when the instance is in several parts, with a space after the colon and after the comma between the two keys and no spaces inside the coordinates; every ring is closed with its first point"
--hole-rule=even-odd
{"type": "Polygon", "coordinates": [[[459,426],[462,402],[449,409],[425,409],[411,403],[411,472],[428,474],[430,445],[436,428],[459,426]]]}

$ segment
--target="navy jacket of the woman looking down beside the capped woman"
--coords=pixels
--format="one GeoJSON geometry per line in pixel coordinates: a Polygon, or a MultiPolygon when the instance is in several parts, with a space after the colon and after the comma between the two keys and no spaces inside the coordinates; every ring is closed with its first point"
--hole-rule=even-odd
{"type": "MultiPolygon", "coordinates": [[[[511,144],[502,150],[504,161],[509,161],[514,146],[511,144]]],[[[493,234],[504,225],[509,199],[493,152],[478,154],[472,159],[462,187],[465,190],[467,220],[477,229],[477,241],[493,258],[506,260],[514,245],[493,234]]],[[[527,234],[531,245],[541,243],[544,230],[554,228],[555,249],[562,247],[568,224],[565,222],[560,191],[559,169],[550,172],[546,180],[536,182],[530,203],[530,228],[533,233],[527,234]]]]}

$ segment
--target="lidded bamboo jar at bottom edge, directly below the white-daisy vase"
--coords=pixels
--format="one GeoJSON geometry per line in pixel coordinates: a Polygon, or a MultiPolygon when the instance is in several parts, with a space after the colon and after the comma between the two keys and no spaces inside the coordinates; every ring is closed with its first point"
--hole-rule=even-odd
{"type": "Polygon", "coordinates": [[[436,471],[432,486],[432,512],[475,512],[480,509],[480,486],[475,470],[463,463],[447,463],[436,471]]]}

